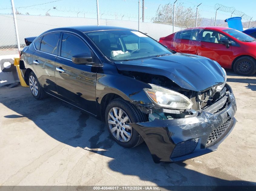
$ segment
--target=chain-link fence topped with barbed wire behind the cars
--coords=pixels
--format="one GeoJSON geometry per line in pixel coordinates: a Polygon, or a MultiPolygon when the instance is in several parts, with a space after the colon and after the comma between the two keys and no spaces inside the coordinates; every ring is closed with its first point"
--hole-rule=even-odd
{"type": "MultiPolygon", "coordinates": [[[[2,2],[0,55],[18,53],[11,0],[2,2]]],[[[97,0],[52,0],[38,4],[33,0],[14,0],[14,3],[21,47],[25,46],[25,37],[38,36],[52,28],[97,25],[98,18],[100,25],[136,30],[140,26],[141,32],[158,40],[185,28],[214,26],[215,22],[216,26],[228,26],[222,18],[231,17],[229,9],[218,10],[215,21],[216,7],[206,6],[203,2],[200,5],[200,1],[194,4],[189,0],[98,0],[99,14],[97,0]]],[[[236,15],[233,13],[232,16],[236,15]]],[[[244,28],[249,27],[247,17],[242,17],[242,22],[244,28]]],[[[254,26],[256,22],[251,21],[250,27],[254,26]]]]}

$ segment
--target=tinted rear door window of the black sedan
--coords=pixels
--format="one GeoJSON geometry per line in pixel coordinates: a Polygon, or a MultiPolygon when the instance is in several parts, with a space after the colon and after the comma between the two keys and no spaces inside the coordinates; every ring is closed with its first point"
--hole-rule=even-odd
{"type": "Polygon", "coordinates": [[[42,38],[40,50],[46,53],[58,55],[58,42],[60,33],[50,33],[42,38]]]}

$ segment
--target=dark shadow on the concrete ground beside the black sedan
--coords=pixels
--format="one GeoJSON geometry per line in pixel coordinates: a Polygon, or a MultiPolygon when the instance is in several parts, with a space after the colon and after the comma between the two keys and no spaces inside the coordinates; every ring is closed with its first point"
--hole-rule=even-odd
{"type": "MultiPolygon", "coordinates": [[[[159,186],[256,185],[254,182],[237,180],[237,177],[226,174],[219,168],[209,169],[208,174],[211,176],[208,176],[198,172],[199,170],[190,170],[189,162],[155,164],[145,143],[131,149],[119,146],[110,137],[104,123],[56,98],[35,100],[28,88],[20,86],[12,90],[6,89],[5,92],[1,92],[0,102],[18,113],[4,116],[9,118],[4,120],[5,123],[15,123],[23,117],[32,120],[38,128],[59,142],[86,149],[91,155],[100,154],[112,158],[113,160],[108,162],[109,168],[121,174],[136,176],[159,186]],[[7,91],[13,91],[12,94],[16,95],[21,91],[25,93],[22,95],[23,99],[19,96],[9,99],[5,95],[7,91]]],[[[193,163],[193,166],[198,166],[201,170],[206,168],[203,165],[203,163],[193,163]]],[[[130,185],[125,180],[123,184],[130,185]]],[[[133,184],[136,184],[136,179],[133,184]]]]}

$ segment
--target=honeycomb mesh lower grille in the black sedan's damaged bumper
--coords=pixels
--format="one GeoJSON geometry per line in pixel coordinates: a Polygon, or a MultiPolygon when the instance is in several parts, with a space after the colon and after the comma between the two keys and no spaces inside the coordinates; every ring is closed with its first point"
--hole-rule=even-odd
{"type": "Polygon", "coordinates": [[[228,120],[218,128],[214,129],[208,137],[206,146],[210,144],[213,145],[213,143],[216,142],[216,140],[218,140],[224,134],[224,132],[228,129],[230,124],[231,124],[231,120],[228,120]]]}

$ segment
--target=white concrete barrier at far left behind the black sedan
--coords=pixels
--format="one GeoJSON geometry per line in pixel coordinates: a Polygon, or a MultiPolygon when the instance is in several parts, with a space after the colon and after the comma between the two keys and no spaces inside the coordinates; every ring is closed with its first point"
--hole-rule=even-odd
{"type": "Polygon", "coordinates": [[[18,54],[0,56],[0,86],[19,82],[14,58],[18,58],[18,54]]]}

